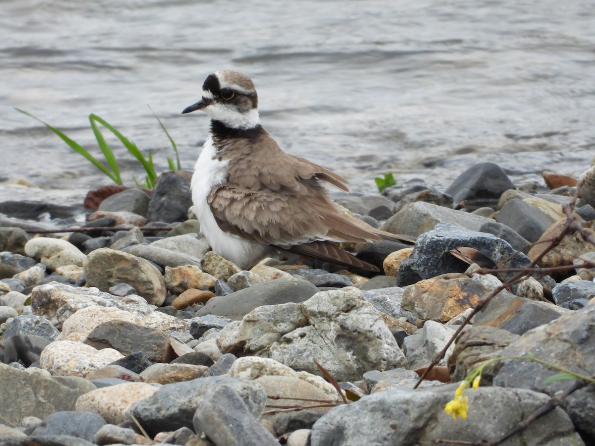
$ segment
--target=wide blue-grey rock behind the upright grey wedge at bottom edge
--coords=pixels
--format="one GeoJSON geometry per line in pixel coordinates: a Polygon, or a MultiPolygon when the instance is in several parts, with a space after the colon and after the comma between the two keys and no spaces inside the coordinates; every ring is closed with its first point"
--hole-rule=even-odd
{"type": "Polygon", "coordinates": [[[130,412],[151,437],[158,432],[175,431],[183,427],[193,428],[192,420],[196,409],[203,406],[205,400],[212,399],[212,390],[221,385],[236,389],[249,413],[252,413],[252,416],[261,416],[267,400],[264,387],[247,379],[228,376],[208,376],[166,384],[150,397],[134,403],[130,412]]]}

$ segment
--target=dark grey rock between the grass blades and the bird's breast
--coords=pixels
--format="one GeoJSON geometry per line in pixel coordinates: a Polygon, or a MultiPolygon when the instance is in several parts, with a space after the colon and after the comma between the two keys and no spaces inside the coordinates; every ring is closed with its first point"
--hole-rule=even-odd
{"type": "Polygon", "coordinates": [[[146,217],[149,221],[167,223],[186,221],[190,206],[190,178],[178,172],[167,171],[157,179],[146,217]]]}

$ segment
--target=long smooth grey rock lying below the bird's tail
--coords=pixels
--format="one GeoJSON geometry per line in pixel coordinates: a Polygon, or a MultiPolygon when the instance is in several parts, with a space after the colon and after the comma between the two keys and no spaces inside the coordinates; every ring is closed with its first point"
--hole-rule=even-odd
{"type": "Polygon", "coordinates": [[[239,320],[256,307],[301,302],[314,296],[317,291],[317,287],[299,277],[274,279],[227,296],[212,297],[195,315],[201,317],[211,314],[239,320]]]}

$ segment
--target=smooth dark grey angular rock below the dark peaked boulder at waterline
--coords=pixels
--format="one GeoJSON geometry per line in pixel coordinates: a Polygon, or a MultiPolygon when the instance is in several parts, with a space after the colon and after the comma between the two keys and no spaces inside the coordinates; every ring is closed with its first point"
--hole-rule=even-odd
{"type": "Polygon", "coordinates": [[[552,226],[552,220],[547,215],[519,198],[508,200],[496,215],[496,221],[512,228],[531,243],[539,240],[552,226]]]}

